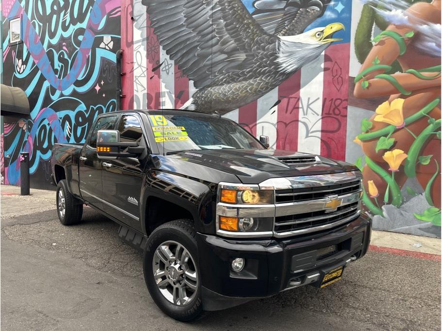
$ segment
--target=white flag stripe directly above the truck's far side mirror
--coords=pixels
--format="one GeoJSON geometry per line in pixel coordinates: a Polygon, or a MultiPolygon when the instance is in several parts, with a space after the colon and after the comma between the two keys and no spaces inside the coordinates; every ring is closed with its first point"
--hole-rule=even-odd
{"type": "Polygon", "coordinates": [[[270,147],[276,146],[278,133],[276,128],[278,106],[272,107],[276,101],[278,101],[278,87],[259,98],[257,102],[256,137],[267,135],[270,147]]]}

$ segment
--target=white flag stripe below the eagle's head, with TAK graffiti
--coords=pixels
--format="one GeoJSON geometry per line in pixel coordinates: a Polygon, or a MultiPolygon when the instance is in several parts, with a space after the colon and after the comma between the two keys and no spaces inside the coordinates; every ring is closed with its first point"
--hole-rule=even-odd
{"type": "Polygon", "coordinates": [[[324,52],[301,69],[298,151],[321,154],[324,52]]]}

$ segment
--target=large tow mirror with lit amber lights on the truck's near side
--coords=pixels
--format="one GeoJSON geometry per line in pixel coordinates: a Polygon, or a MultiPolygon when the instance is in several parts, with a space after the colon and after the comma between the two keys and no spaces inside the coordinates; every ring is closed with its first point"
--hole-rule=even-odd
{"type": "Polygon", "coordinates": [[[135,142],[120,142],[120,132],[117,130],[99,130],[96,149],[99,159],[115,159],[117,157],[138,157],[146,148],[135,142]]]}

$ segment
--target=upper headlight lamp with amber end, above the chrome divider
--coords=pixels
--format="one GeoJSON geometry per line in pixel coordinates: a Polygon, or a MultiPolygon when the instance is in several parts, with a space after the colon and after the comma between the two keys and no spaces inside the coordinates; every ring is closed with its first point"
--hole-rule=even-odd
{"type": "Polygon", "coordinates": [[[234,204],[262,205],[273,203],[273,191],[244,189],[237,190],[221,188],[220,201],[234,204]]]}

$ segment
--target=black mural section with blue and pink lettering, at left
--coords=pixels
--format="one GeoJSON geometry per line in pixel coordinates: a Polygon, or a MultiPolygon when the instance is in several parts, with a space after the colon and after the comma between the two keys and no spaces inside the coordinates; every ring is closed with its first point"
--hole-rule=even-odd
{"type": "Polygon", "coordinates": [[[2,80],[31,106],[29,117],[4,117],[3,183],[19,184],[19,154],[29,152],[32,187],[49,187],[53,144],[82,143],[95,116],[115,110],[120,1],[4,0],[1,11],[2,80]],[[11,44],[16,17],[22,42],[11,44]]]}

